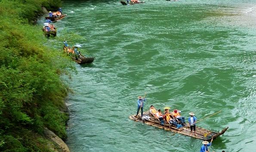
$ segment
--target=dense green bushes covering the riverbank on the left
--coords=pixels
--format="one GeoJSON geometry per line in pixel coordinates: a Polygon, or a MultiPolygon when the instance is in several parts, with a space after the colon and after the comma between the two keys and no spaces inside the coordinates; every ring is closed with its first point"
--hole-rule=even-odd
{"type": "Polygon", "coordinates": [[[32,24],[42,7],[57,10],[60,4],[60,0],[0,0],[1,152],[51,152],[45,146],[49,144],[43,137],[45,127],[67,137],[68,115],[62,109],[68,88],[60,76],[74,67],[68,66],[62,51],[49,47],[41,27],[32,24]]]}

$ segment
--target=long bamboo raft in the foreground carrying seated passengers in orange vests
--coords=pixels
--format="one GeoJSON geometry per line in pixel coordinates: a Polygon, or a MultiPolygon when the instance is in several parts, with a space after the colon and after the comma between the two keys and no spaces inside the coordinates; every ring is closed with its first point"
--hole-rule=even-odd
{"type": "MultiPolygon", "coordinates": [[[[145,111],[143,113],[143,115],[149,115],[149,111],[145,111]]],[[[145,123],[147,125],[151,125],[157,128],[161,128],[167,131],[172,131],[173,134],[174,133],[179,133],[179,134],[184,134],[186,136],[190,136],[190,137],[194,137],[200,140],[212,140],[216,139],[217,137],[219,137],[220,135],[224,134],[225,131],[227,131],[228,127],[224,128],[222,131],[220,132],[215,132],[215,131],[210,131],[204,128],[200,128],[198,126],[196,126],[196,134],[197,136],[194,136],[194,133],[191,134],[190,132],[190,127],[188,127],[188,124],[185,123],[185,126],[182,126],[182,128],[176,128],[175,126],[169,125],[167,123],[164,123],[164,125],[161,125],[159,121],[157,121],[156,119],[154,119],[153,117],[151,117],[148,120],[143,120],[141,119],[141,115],[138,115],[139,117],[136,118],[136,114],[129,116],[130,119],[136,121],[136,122],[142,122],[145,123]]]]}

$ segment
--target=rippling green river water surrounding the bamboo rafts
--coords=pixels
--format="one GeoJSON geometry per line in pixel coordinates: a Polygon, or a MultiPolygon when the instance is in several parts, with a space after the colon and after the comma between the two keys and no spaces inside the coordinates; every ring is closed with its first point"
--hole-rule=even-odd
{"type": "Polygon", "coordinates": [[[210,152],[255,152],[255,0],[64,0],[62,12],[58,34],[77,33],[96,57],[67,79],[71,152],[199,152],[203,140],[128,118],[145,92],[145,110],[168,106],[186,120],[222,110],[197,123],[229,127],[210,152]]]}

